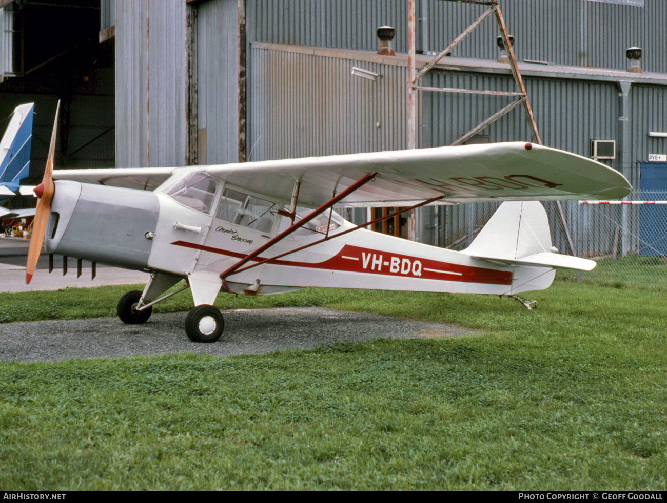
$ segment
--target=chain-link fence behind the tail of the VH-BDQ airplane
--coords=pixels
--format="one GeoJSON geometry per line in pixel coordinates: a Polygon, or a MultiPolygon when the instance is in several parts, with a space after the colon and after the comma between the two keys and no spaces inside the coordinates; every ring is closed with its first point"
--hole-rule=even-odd
{"type": "MultiPolygon", "coordinates": [[[[667,290],[667,192],[634,191],[622,204],[596,203],[543,203],[558,250],[598,262],[591,271],[560,269],[557,277],[667,290]]],[[[442,207],[445,225],[440,245],[465,249],[497,207],[490,203],[442,207]]]]}

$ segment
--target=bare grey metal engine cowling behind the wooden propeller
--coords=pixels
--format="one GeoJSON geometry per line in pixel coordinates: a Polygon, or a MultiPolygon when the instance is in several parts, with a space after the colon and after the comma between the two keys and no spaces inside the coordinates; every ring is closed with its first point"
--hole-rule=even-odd
{"type": "Polygon", "coordinates": [[[49,253],[143,269],[158,213],[152,192],[56,181],[45,248],[49,253]]]}

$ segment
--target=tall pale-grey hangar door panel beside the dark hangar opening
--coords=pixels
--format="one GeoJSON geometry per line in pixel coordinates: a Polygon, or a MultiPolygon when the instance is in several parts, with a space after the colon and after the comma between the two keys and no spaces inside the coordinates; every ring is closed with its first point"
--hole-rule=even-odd
{"type": "Polygon", "coordinates": [[[185,165],[185,3],[118,0],[116,166],[185,165]]]}

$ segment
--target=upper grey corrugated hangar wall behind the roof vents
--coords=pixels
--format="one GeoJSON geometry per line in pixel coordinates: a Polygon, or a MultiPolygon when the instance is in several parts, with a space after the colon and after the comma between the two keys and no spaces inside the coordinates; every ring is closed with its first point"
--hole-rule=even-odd
{"type": "MultiPolygon", "coordinates": [[[[478,15],[483,5],[415,0],[418,51],[440,51],[478,15]]],[[[502,0],[518,59],[554,65],[625,69],[625,50],[644,48],[647,71],[667,73],[667,2],[644,7],[586,0],[502,0]]],[[[396,28],[394,47],[407,47],[405,0],[248,0],[249,41],[375,51],[375,29],[396,28]]],[[[496,24],[487,19],[452,52],[453,56],[496,59],[496,24]]]]}

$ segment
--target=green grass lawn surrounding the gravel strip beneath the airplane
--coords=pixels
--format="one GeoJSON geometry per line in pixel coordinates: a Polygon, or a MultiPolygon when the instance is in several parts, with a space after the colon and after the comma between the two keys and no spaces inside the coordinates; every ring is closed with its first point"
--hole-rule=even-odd
{"type": "MultiPolygon", "coordinates": [[[[127,289],[3,294],[0,320],[111,316],[127,289]]],[[[221,295],[220,308],[321,305],[484,333],[0,363],[0,487],[667,489],[662,294],[560,280],[526,296],[538,310],[478,295],[221,295]]]]}

